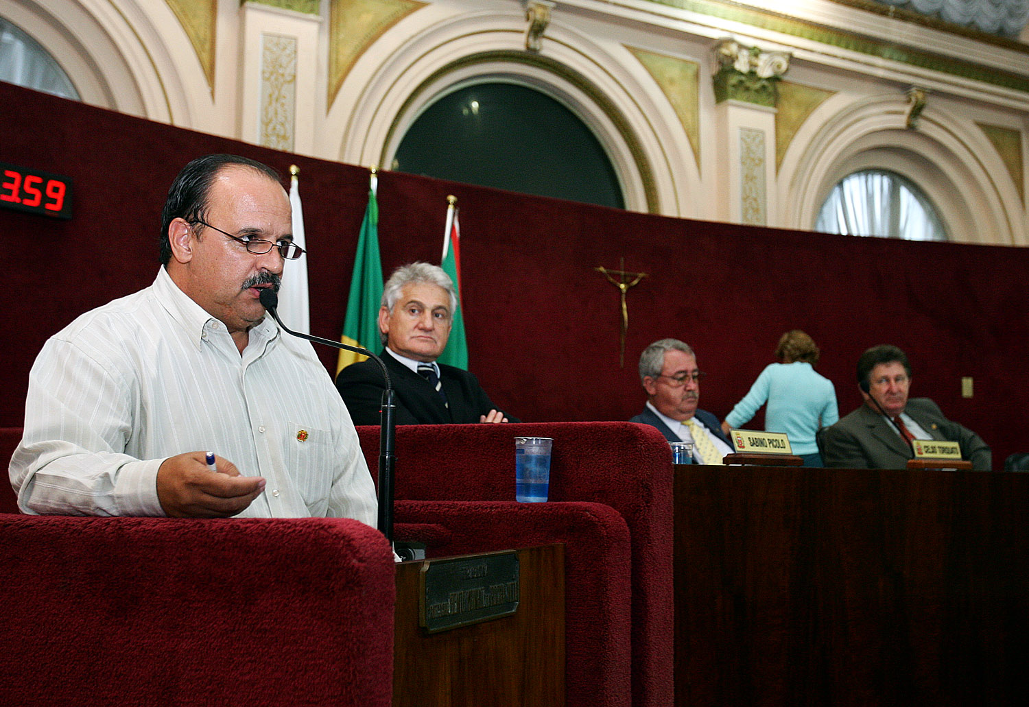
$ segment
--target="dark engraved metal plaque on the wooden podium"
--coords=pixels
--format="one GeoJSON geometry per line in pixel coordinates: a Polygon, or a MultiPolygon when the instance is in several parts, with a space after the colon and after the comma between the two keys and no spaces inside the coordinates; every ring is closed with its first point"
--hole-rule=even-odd
{"type": "Polygon", "coordinates": [[[518,553],[429,560],[420,584],[419,624],[428,633],[507,616],[518,610],[518,553]]]}

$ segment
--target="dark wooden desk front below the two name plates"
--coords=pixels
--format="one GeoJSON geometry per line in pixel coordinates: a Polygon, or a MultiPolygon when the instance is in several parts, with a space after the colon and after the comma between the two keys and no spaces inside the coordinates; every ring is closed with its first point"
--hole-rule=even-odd
{"type": "Polygon", "coordinates": [[[1029,474],[676,467],[676,704],[1029,694],[1029,474]]]}

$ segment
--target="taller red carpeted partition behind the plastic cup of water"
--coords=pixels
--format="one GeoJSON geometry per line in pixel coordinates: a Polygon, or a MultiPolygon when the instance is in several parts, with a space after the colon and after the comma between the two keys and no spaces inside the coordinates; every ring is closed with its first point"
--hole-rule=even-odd
{"type": "MultiPolygon", "coordinates": [[[[375,470],[379,428],[358,433],[375,470]]],[[[554,437],[552,501],[603,503],[625,519],[632,543],[633,704],[671,704],[672,461],[657,429],[628,422],[401,426],[396,498],[513,501],[513,437],[523,435],[554,437]]]]}

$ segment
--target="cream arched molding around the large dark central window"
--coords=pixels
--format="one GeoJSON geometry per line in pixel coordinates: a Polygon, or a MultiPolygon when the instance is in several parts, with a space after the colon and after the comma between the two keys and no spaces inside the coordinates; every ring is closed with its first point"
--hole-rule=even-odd
{"type": "Polygon", "coordinates": [[[539,52],[525,49],[518,2],[440,2],[409,15],[358,59],[331,106],[328,134],[342,135],[335,158],[389,165],[439,97],[504,81],[546,94],[586,123],[612,161],[628,209],[703,217],[711,200],[698,196],[705,187],[671,102],[618,41],[623,33],[586,33],[583,19],[565,8],[552,15],[539,52]]]}

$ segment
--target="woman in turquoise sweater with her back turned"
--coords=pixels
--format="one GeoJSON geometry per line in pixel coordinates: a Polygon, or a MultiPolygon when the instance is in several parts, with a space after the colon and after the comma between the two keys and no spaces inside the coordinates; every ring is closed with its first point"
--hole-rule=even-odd
{"type": "Polygon", "coordinates": [[[750,392],[725,416],[721,428],[729,434],[730,429],[745,425],[768,401],[765,429],[785,432],[793,454],[804,458],[805,466],[821,466],[815,432],[840,419],[836,388],[832,381],[815,373],[818,347],[804,331],[784,333],[775,356],[782,362],[772,363],[761,372],[750,392]]]}

